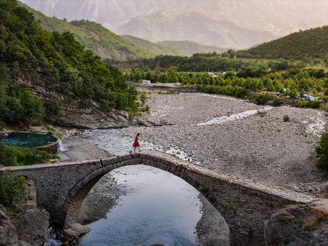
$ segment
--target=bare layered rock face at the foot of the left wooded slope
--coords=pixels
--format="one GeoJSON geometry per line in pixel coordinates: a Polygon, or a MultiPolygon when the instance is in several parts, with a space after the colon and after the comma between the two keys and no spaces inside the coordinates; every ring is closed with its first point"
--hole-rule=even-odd
{"type": "Polygon", "coordinates": [[[27,83],[31,88],[31,92],[37,98],[45,102],[45,105],[49,105],[53,101],[61,101],[61,111],[57,114],[46,109],[46,115],[44,119],[53,125],[71,127],[71,128],[112,128],[118,127],[122,123],[128,122],[128,113],[125,111],[116,112],[103,112],[97,103],[93,102],[90,108],[79,108],[78,101],[70,101],[64,96],[46,91],[41,86],[36,86],[28,81],[19,81],[20,83],[27,83]]]}

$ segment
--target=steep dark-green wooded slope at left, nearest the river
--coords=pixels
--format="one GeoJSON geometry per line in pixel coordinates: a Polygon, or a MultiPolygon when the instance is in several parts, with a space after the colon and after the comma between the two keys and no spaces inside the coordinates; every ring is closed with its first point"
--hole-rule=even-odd
{"type": "Polygon", "coordinates": [[[97,102],[103,111],[135,107],[135,88],[128,88],[117,68],[103,63],[74,39],[73,34],[41,29],[34,15],[15,0],[0,0],[0,124],[41,118],[44,106],[61,111],[60,98],[81,108],[97,102]],[[50,103],[43,106],[29,85],[41,86],[50,103]]]}

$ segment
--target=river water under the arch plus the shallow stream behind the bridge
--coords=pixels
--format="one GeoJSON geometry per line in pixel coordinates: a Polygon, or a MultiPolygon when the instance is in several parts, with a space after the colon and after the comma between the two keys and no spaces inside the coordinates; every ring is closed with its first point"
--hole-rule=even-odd
{"type": "MultiPolygon", "coordinates": [[[[113,134],[115,130],[84,130],[81,138],[64,140],[61,146],[63,151],[59,155],[62,160],[68,160],[70,150],[78,145],[96,145],[106,150],[108,155],[124,155],[132,150],[133,143],[128,138],[113,134]]],[[[143,141],[140,145],[142,150],[162,150],[183,159],[190,158],[178,149],[164,149],[143,141]]],[[[85,157],[86,152],[81,156],[85,157]]],[[[207,232],[201,234],[203,239],[200,240],[197,227],[202,215],[204,217],[207,212],[203,203],[208,202],[193,186],[171,173],[145,165],[118,168],[103,180],[106,178],[116,180],[116,188],[121,195],[106,218],[88,225],[93,230],[84,235],[78,245],[205,245],[202,242],[206,241],[207,232]]],[[[210,203],[206,205],[212,207],[210,203]]],[[[215,240],[227,242],[229,229],[222,216],[212,209],[210,217],[210,234],[214,235],[215,240]]],[[[206,221],[202,222],[202,225],[207,224],[206,221]]]]}

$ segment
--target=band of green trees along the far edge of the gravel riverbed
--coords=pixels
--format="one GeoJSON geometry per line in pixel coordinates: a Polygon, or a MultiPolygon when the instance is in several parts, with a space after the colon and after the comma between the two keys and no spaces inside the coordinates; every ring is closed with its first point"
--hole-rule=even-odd
{"type": "MultiPolygon", "coordinates": [[[[207,58],[206,54],[195,57],[207,58]]],[[[230,63],[225,63],[227,61],[230,60],[222,61],[224,66],[230,66],[230,63]]],[[[240,63],[240,68],[226,68],[224,73],[179,73],[172,68],[145,72],[139,66],[125,71],[124,77],[130,81],[146,79],[161,83],[180,83],[195,86],[204,93],[247,98],[259,104],[270,102],[272,106],[288,103],[299,108],[327,108],[328,93],[324,94],[324,90],[328,91],[328,72],[324,69],[306,68],[303,62],[283,59],[270,61],[267,67],[251,61],[248,62],[249,66],[243,65],[245,61],[236,62],[240,63]],[[312,96],[312,101],[297,100],[304,98],[304,95],[312,96]]]]}

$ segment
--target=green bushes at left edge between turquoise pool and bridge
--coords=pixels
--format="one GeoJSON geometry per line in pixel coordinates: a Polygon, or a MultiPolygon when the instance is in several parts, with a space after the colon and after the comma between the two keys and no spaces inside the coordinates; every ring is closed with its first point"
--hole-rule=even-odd
{"type": "Polygon", "coordinates": [[[34,165],[46,163],[49,159],[56,158],[57,155],[49,154],[42,150],[31,150],[15,146],[6,146],[0,143],[0,165],[6,167],[13,165],[34,165]]]}

